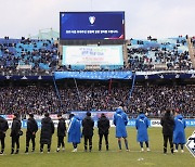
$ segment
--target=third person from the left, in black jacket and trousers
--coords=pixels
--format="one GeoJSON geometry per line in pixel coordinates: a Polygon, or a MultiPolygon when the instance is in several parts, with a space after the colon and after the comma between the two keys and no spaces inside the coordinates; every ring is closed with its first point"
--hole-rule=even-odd
{"type": "Polygon", "coordinates": [[[36,132],[38,130],[37,121],[34,119],[34,114],[29,114],[29,118],[27,120],[27,130],[26,130],[26,151],[25,153],[28,153],[28,147],[29,147],[29,142],[31,140],[32,143],[32,150],[31,152],[35,151],[35,138],[36,138],[36,132]]]}

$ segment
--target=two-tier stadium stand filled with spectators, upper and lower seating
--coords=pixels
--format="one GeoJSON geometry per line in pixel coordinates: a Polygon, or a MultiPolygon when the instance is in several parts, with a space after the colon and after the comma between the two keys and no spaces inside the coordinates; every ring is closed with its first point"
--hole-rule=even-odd
{"type": "MultiPolygon", "coordinates": [[[[194,37],[191,38],[191,43],[195,43],[194,37]]],[[[54,40],[25,39],[24,37],[0,39],[0,76],[52,75],[55,70],[82,70],[83,68],[78,69],[75,66],[58,68],[58,46],[54,40]]],[[[128,64],[123,68],[116,69],[110,66],[110,68],[98,70],[167,69],[193,69],[186,37],[131,39],[128,46],[128,64]]],[[[187,75],[194,77],[193,74],[187,75]]],[[[146,79],[147,76],[144,77],[146,79]]],[[[193,86],[135,86],[130,103],[127,103],[131,84],[123,85],[123,82],[112,88],[101,81],[90,85],[82,81],[78,88],[75,84],[67,84],[66,87],[60,87],[57,94],[52,84],[44,86],[29,81],[27,86],[21,87],[11,86],[10,81],[9,86],[0,87],[0,112],[1,114],[18,112],[22,115],[32,112],[41,115],[46,111],[50,113],[114,111],[122,102],[129,117],[135,117],[140,110],[146,111],[150,117],[159,117],[165,107],[181,110],[185,117],[195,116],[193,86]]]]}

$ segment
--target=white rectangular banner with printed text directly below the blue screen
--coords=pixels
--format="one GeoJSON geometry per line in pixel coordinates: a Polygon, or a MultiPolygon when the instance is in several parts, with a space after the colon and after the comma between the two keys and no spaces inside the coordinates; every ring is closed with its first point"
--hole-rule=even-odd
{"type": "Polygon", "coordinates": [[[122,47],[64,46],[63,65],[123,65],[122,47]]]}

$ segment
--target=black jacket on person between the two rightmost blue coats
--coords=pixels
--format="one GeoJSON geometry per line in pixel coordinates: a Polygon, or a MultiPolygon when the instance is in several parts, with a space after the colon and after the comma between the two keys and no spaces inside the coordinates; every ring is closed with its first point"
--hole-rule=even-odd
{"type": "Polygon", "coordinates": [[[173,133],[174,119],[170,114],[165,114],[165,116],[160,119],[160,125],[162,126],[162,133],[165,136],[171,136],[173,133]]]}

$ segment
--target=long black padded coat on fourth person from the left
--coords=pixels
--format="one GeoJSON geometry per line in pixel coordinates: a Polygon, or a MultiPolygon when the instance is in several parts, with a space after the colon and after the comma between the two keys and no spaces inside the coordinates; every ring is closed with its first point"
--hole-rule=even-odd
{"type": "Polygon", "coordinates": [[[50,117],[44,117],[41,120],[41,133],[40,133],[40,143],[41,144],[51,144],[51,138],[54,133],[54,124],[50,117]]]}

